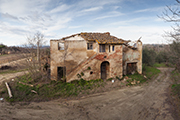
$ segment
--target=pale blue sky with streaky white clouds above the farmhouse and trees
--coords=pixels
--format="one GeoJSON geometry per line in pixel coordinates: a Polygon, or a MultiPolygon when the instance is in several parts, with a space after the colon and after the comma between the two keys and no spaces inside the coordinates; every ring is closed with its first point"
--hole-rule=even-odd
{"type": "Polygon", "coordinates": [[[166,43],[170,24],[157,17],[175,0],[0,0],[0,43],[21,45],[37,31],[47,40],[110,32],[143,43],[166,43]]]}

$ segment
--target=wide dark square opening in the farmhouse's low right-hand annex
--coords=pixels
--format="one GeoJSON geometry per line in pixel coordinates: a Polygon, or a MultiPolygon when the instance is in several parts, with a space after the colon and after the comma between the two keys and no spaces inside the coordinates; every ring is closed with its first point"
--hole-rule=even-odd
{"type": "Polygon", "coordinates": [[[127,63],[127,75],[134,74],[137,71],[137,63],[127,63]]]}

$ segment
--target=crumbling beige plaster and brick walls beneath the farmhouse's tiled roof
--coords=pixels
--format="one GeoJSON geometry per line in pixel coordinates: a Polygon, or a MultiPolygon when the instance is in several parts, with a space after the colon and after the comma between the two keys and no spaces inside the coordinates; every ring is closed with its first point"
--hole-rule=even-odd
{"type": "MultiPolygon", "coordinates": [[[[78,75],[85,80],[108,79],[116,76],[121,78],[125,73],[126,64],[130,61],[137,62],[138,72],[142,73],[142,56],[140,58],[139,55],[133,55],[134,50],[131,48],[125,52],[127,55],[124,54],[123,43],[104,44],[105,52],[100,52],[100,43],[97,40],[86,40],[81,34],[60,40],[51,40],[51,79],[58,79],[58,67],[66,67],[66,82],[79,79],[78,75]],[[64,50],[58,50],[60,42],[64,43],[64,50]],[[88,43],[92,43],[93,49],[87,49],[88,43]],[[129,57],[131,55],[135,57],[129,57]],[[139,59],[141,62],[138,61],[139,59]]],[[[139,43],[138,45],[138,47],[142,46],[139,43]]],[[[135,53],[138,54],[140,51],[142,52],[142,47],[138,48],[135,53]]]]}

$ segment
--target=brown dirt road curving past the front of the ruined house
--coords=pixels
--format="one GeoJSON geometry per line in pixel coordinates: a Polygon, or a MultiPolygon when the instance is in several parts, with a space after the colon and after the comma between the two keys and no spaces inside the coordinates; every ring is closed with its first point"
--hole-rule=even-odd
{"type": "Polygon", "coordinates": [[[170,68],[142,86],[94,94],[79,100],[0,102],[0,120],[174,120],[167,102],[170,68]]]}

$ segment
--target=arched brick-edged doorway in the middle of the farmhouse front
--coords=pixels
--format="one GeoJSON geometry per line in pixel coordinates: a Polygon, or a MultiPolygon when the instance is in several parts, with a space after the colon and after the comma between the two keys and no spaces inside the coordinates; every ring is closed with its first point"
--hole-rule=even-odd
{"type": "Polygon", "coordinates": [[[104,61],[101,63],[101,79],[105,80],[109,74],[109,62],[104,61]]]}

